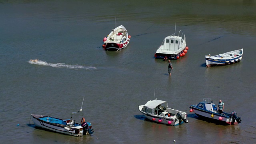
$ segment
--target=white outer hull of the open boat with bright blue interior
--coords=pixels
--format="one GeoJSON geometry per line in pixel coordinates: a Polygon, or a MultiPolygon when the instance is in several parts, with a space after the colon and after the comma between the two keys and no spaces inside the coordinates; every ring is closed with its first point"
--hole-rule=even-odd
{"type": "MultiPolygon", "coordinates": [[[[42,117],[40,115],[32,114],[32,120],[37,127],[45,128],[47,130],[51,130],[53,132],[58,132],[62,134],[67,134],[71,136],[82,136],[83,135],[83,128],[82,126],[76,127],[66,127],[63,124],[56,124],[51,122],[46,122],[44,120],[40,120],[39,118],[42,117]]],[[[52,117],[49,117],[52,118],[52,117]]]]}

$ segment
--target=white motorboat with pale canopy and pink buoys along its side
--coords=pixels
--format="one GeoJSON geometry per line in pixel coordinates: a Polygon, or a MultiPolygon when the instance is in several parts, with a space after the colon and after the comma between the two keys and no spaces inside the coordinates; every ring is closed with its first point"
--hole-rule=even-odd
{"type": "Polygon", "coordinates": [[[173,108],[168,108],[168,104],[163,100],[150,100],[144,105],[139,106],[140,112],[153,122],[176,126],[182,123],[188,123],[186,112],[173,108]]]}

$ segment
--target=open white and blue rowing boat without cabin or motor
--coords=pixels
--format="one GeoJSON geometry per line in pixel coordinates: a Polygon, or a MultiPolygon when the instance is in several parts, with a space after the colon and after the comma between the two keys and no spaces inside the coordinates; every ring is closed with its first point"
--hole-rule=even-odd
{"type": "Polygon", "coordinates": [[[243,49],[226,52],[224,54],[218,54],[216,56],[211,56],[209,54],[208,56],[205,56],[206,67],[223,66],[240,62],[240,60],[242,60],[243,54],[243,49]]]}

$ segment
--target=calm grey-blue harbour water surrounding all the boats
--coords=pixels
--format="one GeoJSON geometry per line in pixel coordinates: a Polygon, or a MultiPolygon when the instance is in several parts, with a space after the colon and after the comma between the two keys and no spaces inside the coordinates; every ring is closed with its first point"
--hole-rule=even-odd
{"type": "Polygon", "coordinates": [[[0,33],[3,143],[256,143],[255,0],[0,0],[0,33]],[[189,50],[172,61],[170,78],[168,62],[154,53],[175,23],[189,50]],[[102,40],[116,25],[126,27],[130,44],[104,51],[102,40]],[[205,55],[240,48],[241,62],[206,68],[205,55]],[[40,64],[29,62],[37,58],[40,64]],[[153,100],[154,90],[169,107],[187,112],[188,124],[146,120],[138,105],[153,100]],[[48,132],[30,120],[31,114],[68,119],[83,96],[95,136],[48,132]],[[223,126],[190,113],[203,98],[222,99],[242,123],[223,126]]]}

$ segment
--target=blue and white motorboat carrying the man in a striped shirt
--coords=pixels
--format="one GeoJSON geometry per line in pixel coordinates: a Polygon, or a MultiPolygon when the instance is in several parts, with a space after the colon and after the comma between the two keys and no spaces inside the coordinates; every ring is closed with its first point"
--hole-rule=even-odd
{"type": "Polygon", "coordinates": [[[242,121],[240,117],[236,116],[235,111],[231,113],[218,113],[217,105],[210,98],[204,98],[202,102],[199,102],[197,105],[191,105],[190,108],[190,112],[194,112],[203,118],[210,118],[212,120],[226,122],[227,124],[239,124],[242,121]]]}

